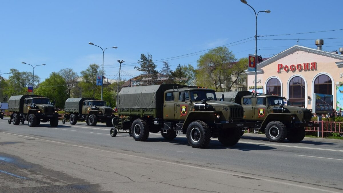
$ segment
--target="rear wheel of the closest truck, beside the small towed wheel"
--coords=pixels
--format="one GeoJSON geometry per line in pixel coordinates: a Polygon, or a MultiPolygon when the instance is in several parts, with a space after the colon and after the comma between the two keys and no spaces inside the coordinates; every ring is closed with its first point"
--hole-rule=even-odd
{"type": "Polygon", "coordinates": [[[133,121],[131,126],[132,137],[136,141],[146,141],[149,137],[149,126],[143,119],[136,119],[133,121]]]}

